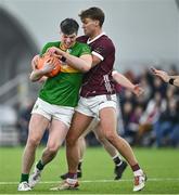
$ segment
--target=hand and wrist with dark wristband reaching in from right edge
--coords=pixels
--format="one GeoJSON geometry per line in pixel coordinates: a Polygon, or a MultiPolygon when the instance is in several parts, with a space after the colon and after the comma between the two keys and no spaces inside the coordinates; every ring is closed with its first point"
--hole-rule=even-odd
{"type": "Polygon", "coordinates": [[[179,76],[170,76],[166,72],[156,69],[154,67],[151,68],[152,73],[159,77],[164,82],[168,82],[170,84],[179,87],[179,76]]]}

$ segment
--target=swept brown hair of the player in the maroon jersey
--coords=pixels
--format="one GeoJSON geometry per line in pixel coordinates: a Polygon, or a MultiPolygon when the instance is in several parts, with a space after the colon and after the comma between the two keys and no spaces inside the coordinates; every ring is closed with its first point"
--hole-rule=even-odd
{"type": "Polygon", "coordinates": [[[97,20],[100,22],[100,26],[102,27],[105,15],[101,9],[97,6],[92,6],[87,10],[81,11],[81,13],[79,14],[79,17],[81,21],[84,21],[85,18],[97,20]]]}

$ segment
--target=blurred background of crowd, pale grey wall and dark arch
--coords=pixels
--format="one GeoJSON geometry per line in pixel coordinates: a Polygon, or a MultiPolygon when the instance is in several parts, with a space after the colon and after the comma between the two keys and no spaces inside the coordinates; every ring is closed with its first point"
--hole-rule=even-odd
{"type": "MultiPolygon", "coordinates": [[[[105,12],[103,29],[116,47],[115,68],[145,89],[136,98],[119,88],[119,133],[132,145],[179,146],[179,88],[150,73],[155,66],[179,75],[179,0],[0,0],[0,146],[26,142],[40,88],[28,80],[33,56],[60,39],[62,20],[80,24],[78,14],[90,6],[105,12]]],[[[87,141],[99,144],[92,133],[87,141]]]]}

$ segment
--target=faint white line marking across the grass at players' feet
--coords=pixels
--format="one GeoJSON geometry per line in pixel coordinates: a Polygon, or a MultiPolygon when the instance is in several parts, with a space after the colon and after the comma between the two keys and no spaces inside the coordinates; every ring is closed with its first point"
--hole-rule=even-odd
{"type": "MultiPolygon", "coordinates": [[[[79,180],[80,183],[117,183],[117,182],[131,182],[132,180],[129,179],[123,179],[123,180],[79,180]]],[[[161,181],[179,181],[179,178],[150,178],[148,181],[153,182],[161,182],[161,181]]],[[[60,181],[43,181],[39,182],[41,184],[51,184],[51,183],[59,183],[60,181]]],[[[18,182],[0,182],[0,185],[15,185],[18,184],[18,182]]]]}

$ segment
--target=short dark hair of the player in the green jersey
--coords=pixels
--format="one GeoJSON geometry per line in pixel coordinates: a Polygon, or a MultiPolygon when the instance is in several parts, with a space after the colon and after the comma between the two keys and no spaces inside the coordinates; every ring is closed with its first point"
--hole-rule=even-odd
{"type": "Polygon", "coordinates": [[[61,22],[60,27],[61,31],[65,35],[72,35],[74,32],[77,35],[79,29],[78,23],[73,18],[65,18],[61,22]]]}

